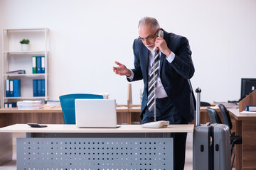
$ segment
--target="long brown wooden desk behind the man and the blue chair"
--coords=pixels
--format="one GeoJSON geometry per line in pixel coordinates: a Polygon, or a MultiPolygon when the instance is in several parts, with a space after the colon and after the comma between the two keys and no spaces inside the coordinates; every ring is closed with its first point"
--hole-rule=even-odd
{"type": "MultiPolygon", "coordinates": [[[[132,108],[117,106],[117,124],[140,124],[142,120],[139,117],[139,113],[140,106],[133,106],[132,108]]],[[[209,121],[206,107],[201,107],[201,123],[207,123],[209,121]]],[[[0,128],[16,123],[64,124],[65,122],[61,108],[38,110],[0,108],[0,128]]],[[[196,120],[193,121],[193,124],[196,125],[196,120]]]]}

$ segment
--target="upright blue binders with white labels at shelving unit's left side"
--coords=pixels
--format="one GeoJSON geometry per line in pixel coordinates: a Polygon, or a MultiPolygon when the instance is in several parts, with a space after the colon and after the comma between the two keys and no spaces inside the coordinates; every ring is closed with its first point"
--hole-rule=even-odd
{"type": "Polygon", "coordinates": [[[21,96],[21,80],[6,79],[6,97],[20,97],[20,96],[21,96]]]}

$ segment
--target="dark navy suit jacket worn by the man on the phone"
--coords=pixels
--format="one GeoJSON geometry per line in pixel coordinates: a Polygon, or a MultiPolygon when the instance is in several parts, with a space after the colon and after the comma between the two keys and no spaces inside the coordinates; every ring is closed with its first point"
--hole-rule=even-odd
{"type": "MultiPolygon", "coordinates": [[[[163,29],[162,29],[163,30],[163,29]]],[[[169,63],[166,55],[161,53],[160,60],[160,79],[166,91],[168,98],[181,113],[183,118],[188,122],[193,121],[195,117],[195,97],[189,79],[193,77],[195,69],[191,59],[191,50],[188,40],[174,33],[164,31],[164,40],[166,40],[169,49],[174,52],[175,59],[169,63]]],[[[135,39],[133,44],[134,50],[134,79],[137,81],[143,79],[144,92],[142,98],[141,118],[143,118],[147,101],[148,86],[148,67],[149,67],[149,50],[142,42],[135,39]]],[[[131,81],[130,79],[127,79],[131,81]]]]}

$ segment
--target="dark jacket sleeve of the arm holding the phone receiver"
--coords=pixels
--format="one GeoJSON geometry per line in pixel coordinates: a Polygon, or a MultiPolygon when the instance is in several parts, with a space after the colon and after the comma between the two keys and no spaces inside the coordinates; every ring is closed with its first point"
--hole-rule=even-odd
{"type": "Polygon", "coordinates": [[[188,39],[185,37],[180,38],[178,41],[178,50],[175,53],[175,58],[171,62],[171,67],[185,79],[191,79],[195,72],[193,61],[191,59],[191,50],[188,39]]]}

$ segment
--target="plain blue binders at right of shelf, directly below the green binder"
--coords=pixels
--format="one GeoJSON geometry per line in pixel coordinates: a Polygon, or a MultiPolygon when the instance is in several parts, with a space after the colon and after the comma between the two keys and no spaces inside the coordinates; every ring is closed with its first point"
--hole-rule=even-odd
{"type": "Polygon", "coordinates": [[[46,96],[45,79],[33,79],[33,96],[46,96]]]}

